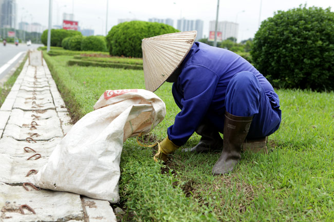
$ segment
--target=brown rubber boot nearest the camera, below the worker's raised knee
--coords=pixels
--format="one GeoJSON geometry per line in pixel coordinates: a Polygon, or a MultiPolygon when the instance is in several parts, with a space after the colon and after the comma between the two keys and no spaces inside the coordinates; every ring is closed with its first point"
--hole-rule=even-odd
{"type": "Polygon", "coordinates": [[[224,149],[213,166],[213,174],[231,172],[240,159],[243,142],[248,134],[253,117],[235,116],[225,113],[224,149]]]}

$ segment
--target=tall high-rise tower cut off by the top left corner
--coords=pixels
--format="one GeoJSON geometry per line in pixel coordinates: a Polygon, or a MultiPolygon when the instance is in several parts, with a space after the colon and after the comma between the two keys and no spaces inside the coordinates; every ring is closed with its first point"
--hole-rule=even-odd
{"type": "Polygon", "coordinates": [[[0,27],[16,28],[15,0],[0,0],[0,27]]]}

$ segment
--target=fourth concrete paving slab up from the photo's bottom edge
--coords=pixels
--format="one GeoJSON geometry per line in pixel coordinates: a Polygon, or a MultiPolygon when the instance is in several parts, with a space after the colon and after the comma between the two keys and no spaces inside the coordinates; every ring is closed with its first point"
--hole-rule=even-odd
{"type": "Polygon", "coordinates": [[[7,124],[3,133],[3,137],[12,137],[16,140],[26,140],[27,137],[31,137],[36,141],[49,140],[54,137],[63,137],[63,131],[58,126],[50,126],[48,128],[30,129],[25,127],[19,127],[14,124],[7,124]]]}

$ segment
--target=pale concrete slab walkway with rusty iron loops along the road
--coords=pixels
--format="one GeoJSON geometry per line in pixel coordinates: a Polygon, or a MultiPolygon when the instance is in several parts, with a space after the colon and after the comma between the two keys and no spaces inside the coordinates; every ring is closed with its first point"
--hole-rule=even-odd
{"type": "Polygon", "coordinates": [[[116,221],[108,201],[23,186],[71,128],[45,60],[31,59],[0,108],[0,221],[116,221]]]}

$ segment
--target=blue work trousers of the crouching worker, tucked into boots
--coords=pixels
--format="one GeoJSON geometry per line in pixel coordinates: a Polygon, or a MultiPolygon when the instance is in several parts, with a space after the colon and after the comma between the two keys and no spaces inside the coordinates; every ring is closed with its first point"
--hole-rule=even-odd
{"type": "MultiPolygon", "coordinates": [[[[182,96],[177,93],[174,85],[174,100],[182,109],[182,96]]],[[[253,73],[239,72],[231,78],[226,90],[225,108],[232,115],[253,116],[247,138],[261,138],[279,129],[281,110],[274,104],[253,73]]],[[[224,134],[224,120],[224,113],[217,114],[209,109],[202,123],[210,124],[224,134]]]]}

